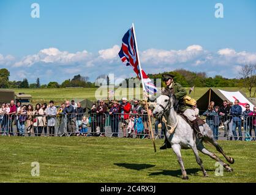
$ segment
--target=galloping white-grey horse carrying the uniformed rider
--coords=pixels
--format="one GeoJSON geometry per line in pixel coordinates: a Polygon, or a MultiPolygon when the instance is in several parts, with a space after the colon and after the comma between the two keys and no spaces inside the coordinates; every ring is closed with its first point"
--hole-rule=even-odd
{"type": "Polygon", "coordinates": [[[175,132],[169,133],[168,130],[165,131],[165,136],[168,138],[168,141],[171,143],[171,148],[173,149],[173,152],[175,152],[179,165],[181,166],[182,171],[182,179],[189,179],[187,176],[186,170],[183,165],[183,159],[181,157],[181,149],[192,149],[195,154],[195,159],[197,160],[198,165],[200,165],[201,170],[203,171],[203,176],[208,177],[208,174],[205,171],[205,168],[203,167],[203,162],[201,161],[201,158],[198,155],[198,150],[202,152],[203,154],[208,155],[209,157],[213,158],[214,160],[218,161],[220,165],[224,166],[224,168],[232,172],[233,169],[230,168],[230,165],[225,163],[224,161],[220,160],[219,157],[217,157],[212,152],[208,151],[205,146],[203,146],[203,141],[206,141],[208,143],[213,144],[213,146],[216,147],[217,151],[219,151],[226,160],[233,164],[235,160],[232,157],[228,157],[225,155],[222,148],[219,146],[216,140],[214,140],[213,132],[211,128],[208,126],[208,124],[203,124],[203,126],[200,126],[200,131],[203,133],[204,138],[202,140],[198,140],[196,136],[194,136],[194,130],[190,125],[186,122],[186,120],[178,115],[175,111],[175,96],[171,94],[170,91],[165,91],[159,98],[156,100],[157,105],[156,108],[154,108],[153,115],[156,118],[160,118],[161,116],[165,116],[165,119],[167,119],[167,126],[171,126],[175,128],[175,132]]]}

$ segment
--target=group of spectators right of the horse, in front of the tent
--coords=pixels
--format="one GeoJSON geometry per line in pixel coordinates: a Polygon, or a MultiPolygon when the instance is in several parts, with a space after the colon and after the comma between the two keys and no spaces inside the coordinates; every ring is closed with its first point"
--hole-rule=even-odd
{"type": "MultiPolygon", "coordinates": [[[[227,140],[243,140],[242,127],[245,133],[245,140],[252,140],[252,130],[256,133],[256,107],[250,110],[250,105],[246,104],[246,110],[242,111],[239,100],[234,102],[224,101],[222,105],[214,105],[211,102],[208,110],[203,113],[206,116],[206,123],[213,130],[214,137],[218,140],[219,127],[224,127],[224,137],[227,140]],[[238,130],[238,134],[237,134],[238,130]]],[[[255,134],[254,134],[255,135],[255,134]]]]}

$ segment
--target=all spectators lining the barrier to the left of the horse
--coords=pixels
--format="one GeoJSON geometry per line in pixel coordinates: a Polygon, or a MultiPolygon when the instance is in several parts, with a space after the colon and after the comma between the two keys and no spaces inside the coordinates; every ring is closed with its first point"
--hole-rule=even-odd
{"type": "MultiPolygon", "coordinates": [[[[152,110],[152,108],[151,108],[152,110]]],[[[49,104],[21,105],[10,101],[0,108],[0,133],[2,136],[57,136],[61,129],[67,129],[69,135],[105,137],[105,124],[109,118],[112,137],[118,137],[121,126],[122,137],[140,138],[149,133],[149,122],[145,104],[140,101],[128,102],[122,98],[120,102],[97,101],[86,113],[86,109],[75,101],[66,101],[56,107],[53,101],[49,104]],[[16,126],[16,131],[13,127],[16,126]],[[91,133],[88,133],[91,127],[91,133]]]]}

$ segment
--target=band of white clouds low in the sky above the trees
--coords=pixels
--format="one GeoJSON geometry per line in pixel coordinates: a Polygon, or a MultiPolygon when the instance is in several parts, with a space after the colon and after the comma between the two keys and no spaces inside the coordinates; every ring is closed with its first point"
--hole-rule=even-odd
{"type": "MultiPolygon", "coordinates": [[[[57,48],[46,48],[16,61],[12,55],[4,57],[0,54],[0,65],[12,65],[9,69],[13,80],[26,77],[32,82],[37,77],[45,83],[51,80],[62,82],[71,79],[75,74],[89,76],[91,81],[100,74],[108,73],[114,73],[116,78],[135,77],[132,68],[124,66],[119,59],[119,49],[118,45],[114,45],[92,54],[86,50],[71,53],[57,48]]],[[[142,68],[148,74],[184,68],[190,71],[205,71],[208,76],[220,74],[232,78],[238,77],[239,65],[256,63],[256,53],[230,48],[210,52],[194,44],[179,50],[146,49],[140,52],[140,59],[142,68]]]]}

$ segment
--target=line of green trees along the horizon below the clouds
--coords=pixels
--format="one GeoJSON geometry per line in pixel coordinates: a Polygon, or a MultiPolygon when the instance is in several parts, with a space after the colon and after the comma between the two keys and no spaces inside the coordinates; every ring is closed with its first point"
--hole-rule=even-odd
{"type": "MultiPolygon", "coordinates": [[[[241,65],[241,70],[238,73],[240,77],[235,79],[228,79],[220,75],[208,77],[205,72],[193,72],[186,69],[176,69],[175,71],[165,73],[173,74],[175,76],[175,82],[180,83],[183,87],[245,87],[249,91],[250,97],[255,96],[256,93],[256,64],[241,65]]],[[[162,74],[148,74],[148,77],[152,80],[161,79],[162,74]]],[[[47,85],[41,85],[39,78],[36,79],[35,83],[29,84],[26,78],[22,81],[10,81],[9,76],[10,72],[8,69],[0,69],[0,88],[94,88],[100,86],[98,83],[100,79],[106,80],[104,84],[107,85],[110,82],[109,77],[105,74],[98,76],[96,79],[98,81],[96,82],[89,82],[89,77],[78,74],[73,79],[64,80],[61,84],[58,82],[49,82],[47,85]]],[[[125,79],[124,82],[128,83],[128,80],[125,79]]],[[[165,86],[164,82],[162,82],[162,86],[165,86]]]]}

